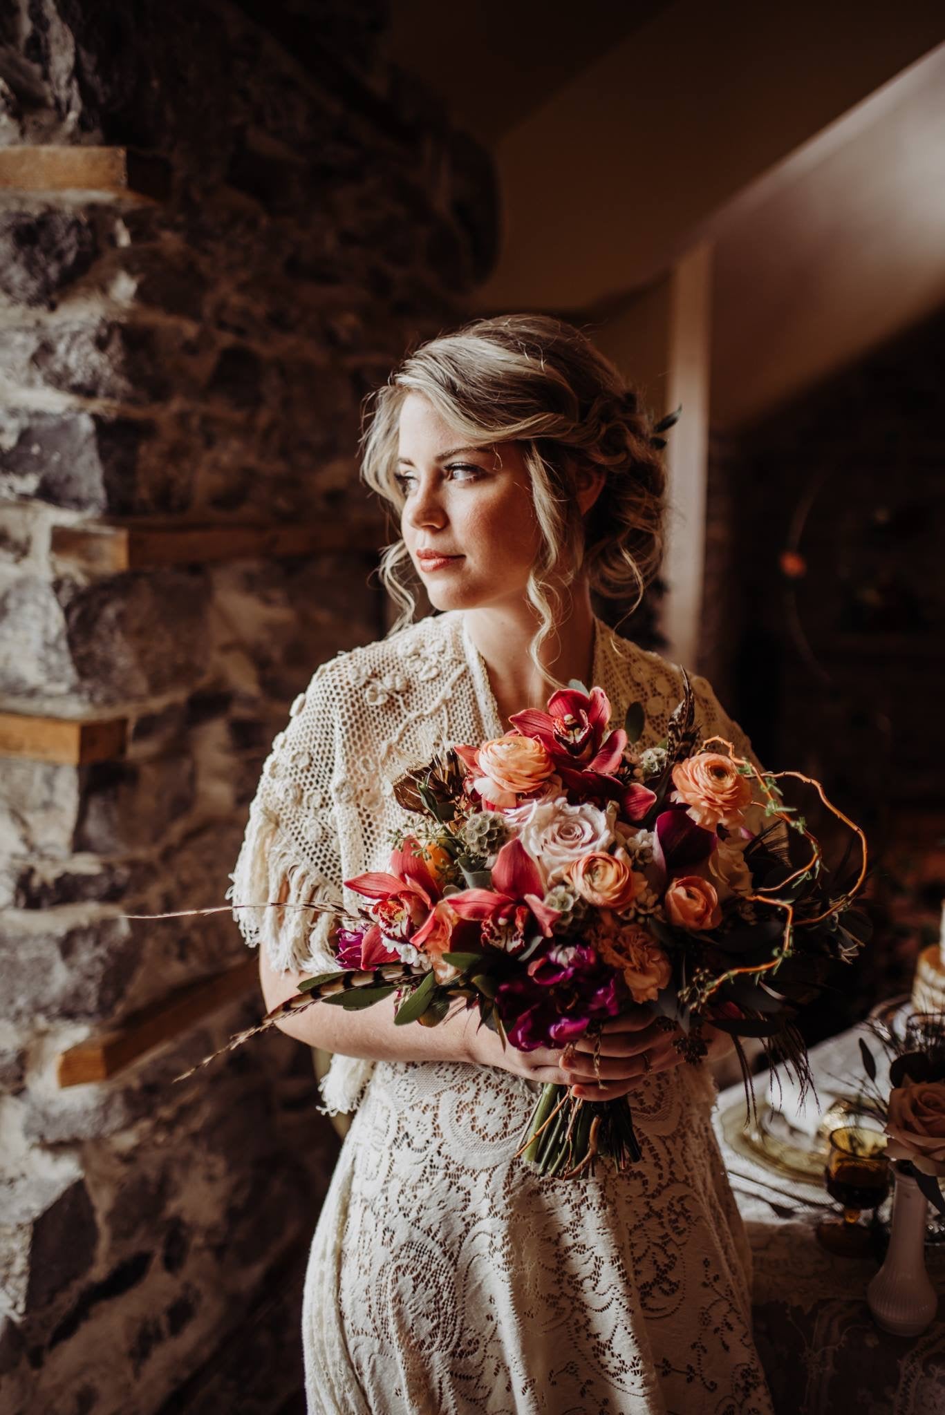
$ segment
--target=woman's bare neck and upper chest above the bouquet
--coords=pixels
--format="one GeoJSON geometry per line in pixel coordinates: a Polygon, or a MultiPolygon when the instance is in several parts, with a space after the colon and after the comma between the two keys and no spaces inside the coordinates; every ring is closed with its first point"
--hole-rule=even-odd
{"type": "Polygon", "coordinates": [[[540,623],[531,604],[519,601],[511,606],[483,606],[465,610],[463,620],[489,671],[504,730],[509,729],[513,712],[547,705],[551,675],[565,683],[578,678],[591,686],[594,611],[587,586],[574,590],[567,618],[555,621],[554,631],[538,651],[544,678],[528,657],[528,645],[540,623]]]}

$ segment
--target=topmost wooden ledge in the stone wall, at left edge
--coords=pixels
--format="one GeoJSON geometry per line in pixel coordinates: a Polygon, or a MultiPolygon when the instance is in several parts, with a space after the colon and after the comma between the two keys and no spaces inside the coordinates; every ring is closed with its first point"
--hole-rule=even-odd
{"type": "Polygon", "coordinates": [[[0,149],[0,192],[105,192],[137,201],[167,201],[170,163],[132,147],[0,149]]]}

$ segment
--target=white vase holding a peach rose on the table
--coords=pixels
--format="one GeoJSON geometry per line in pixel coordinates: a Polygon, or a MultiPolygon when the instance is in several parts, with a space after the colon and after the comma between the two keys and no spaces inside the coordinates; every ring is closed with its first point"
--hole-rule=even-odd
{"type": "Polygon", "coordinates": [[[885,1262],[866,1289],[876,1324],[894,1336],[918,1336],[938,1307],[925,1271],[928,1200],[911,1174],[895,1169],[893,1231],[885,1262]]]}

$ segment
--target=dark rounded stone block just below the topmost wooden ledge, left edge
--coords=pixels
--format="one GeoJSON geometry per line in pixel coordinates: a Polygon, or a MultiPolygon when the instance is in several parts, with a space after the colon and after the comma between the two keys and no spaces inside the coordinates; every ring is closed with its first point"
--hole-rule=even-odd
{"type": "Polygon", "coordinates": [[[98,255],[95,228],[81,212],[0,212],[0,290],[27,306],[55,308],[57,296],[85,275],[98,255]]]}

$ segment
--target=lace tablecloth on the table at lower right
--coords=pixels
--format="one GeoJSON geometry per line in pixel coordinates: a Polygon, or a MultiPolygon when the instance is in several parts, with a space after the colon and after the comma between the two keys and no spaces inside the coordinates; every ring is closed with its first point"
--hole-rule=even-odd
{"type": "MultiPolygon", "coordinates": [[[[850,1082],[861,1075],[860,1036],[866,1033],[854,1027],[812,1050],[820,1111],[836,1095],[856,1090],[850,1082]]],[[[878,1044],[871,1050],[877,1053],[878,1044]]],[[[744,1107],[741,1085],[721,1092],[715,1129],[751,1240],[755,1341],[778,1415],[941,1415],[945,1244],[925,1249],[929,1278],[939,1292],[935,1322],[919,1337],[881,1332],[866,1305],[877,1261],[837,1258],[817,1244],[817,1220],[830,1211],[839,1214],[839,1208],[813,1207],[830,1203],[822,1186],[792,1180],[727,1143],[721,1119],[740,1101],[744,1107]]],[[[795,1104],[786,1088],[785,1114],[795,1104]]],[[[817,1104],[808,1102],[800,1124],[816,1125],[816,1115],[817,1104]]]]}

